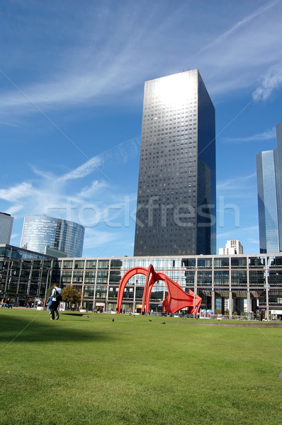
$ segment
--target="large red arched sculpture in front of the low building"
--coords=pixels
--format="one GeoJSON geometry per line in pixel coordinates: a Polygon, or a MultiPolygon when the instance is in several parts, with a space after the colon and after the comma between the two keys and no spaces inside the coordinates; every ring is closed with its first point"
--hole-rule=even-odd
{"type": "Polygon", "coordinates": [[[149,311],[150,307],[150,297],[152,293],[152,287],[157,280],[162,280],[167,285],[168,295],[165,300],[162,302],[162,311],[168,313],[176,313],[179,310],[188,307],[189,314],[197,314],[201,305],[202,298],[193,293],[192,290],[189,290],[186,293],[178,281],[170,279],[164,273],[157,273],[154,271],[154,267],[150,264],[149,268],[145,267],[133,267],[130,268],[120,280],[120,285],[118,287],[118,302],[117,310],[120,312],[121,303],[123,302],[123,292],[125,289],[126,283],[128,280],[135,276],[135,274],[142,274],[146,276],[145,288],[143,293],[142,300],[142,313],[149,311]]]}

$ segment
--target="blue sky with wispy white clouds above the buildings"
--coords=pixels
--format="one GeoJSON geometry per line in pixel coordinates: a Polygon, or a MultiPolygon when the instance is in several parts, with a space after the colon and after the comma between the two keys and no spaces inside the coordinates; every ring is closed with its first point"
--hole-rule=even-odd
{"type": "Polygon", "coordinates": [[[216,112],[218,237],[259,252],[256,154],[282,120],[281,1],[2,4],[0,211],[86,227],[133,255],[146,80],[198,68],[216,112]]]}

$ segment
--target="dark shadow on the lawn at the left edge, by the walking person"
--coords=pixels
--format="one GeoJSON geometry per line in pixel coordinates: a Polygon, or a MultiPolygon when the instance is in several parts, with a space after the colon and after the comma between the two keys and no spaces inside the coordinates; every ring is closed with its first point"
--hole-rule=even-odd
{"type": "MultiPolygon", "coordinates": [[[[8,313],[8,312],[6,312],[8,313]]],[[[23,312],[0,314],[1,342],[40,341],[106,341],[111,337],[93,326],[84,326],[88,317],[60,314],[59,320],[50,320],[46,312],[23,312]]],[[[92,321],[91,321],[92,322],[92,321]]],[[[93,323],[93,322],[92,322],[93,323]]]]}

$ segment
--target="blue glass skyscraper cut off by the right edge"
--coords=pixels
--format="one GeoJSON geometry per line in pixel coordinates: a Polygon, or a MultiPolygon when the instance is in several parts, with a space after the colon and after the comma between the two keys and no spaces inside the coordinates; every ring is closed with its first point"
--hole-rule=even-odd
{"type": "Polygon", "coordinates": [[[256,155],[261,254],[282,251],[282,122],[276,137],[276,149],[256,155]]]}

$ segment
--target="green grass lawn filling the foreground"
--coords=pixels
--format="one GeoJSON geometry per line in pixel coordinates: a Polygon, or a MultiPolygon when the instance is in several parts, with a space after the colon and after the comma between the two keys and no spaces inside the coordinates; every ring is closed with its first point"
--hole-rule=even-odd
{"type": "Polygon", "coordinates": [[[281,425],[281,328],[150,319],[0,309],[1,424],[281,425]]]}

